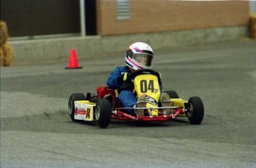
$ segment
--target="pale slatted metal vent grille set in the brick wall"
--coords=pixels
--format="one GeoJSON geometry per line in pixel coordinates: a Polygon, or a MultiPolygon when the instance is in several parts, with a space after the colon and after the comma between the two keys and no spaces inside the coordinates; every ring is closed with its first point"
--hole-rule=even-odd
{"type": "Polygon", "coordinates": [[[130,0],[116,0],[116,19],[119,21],[130,19],[130,0]]]}

